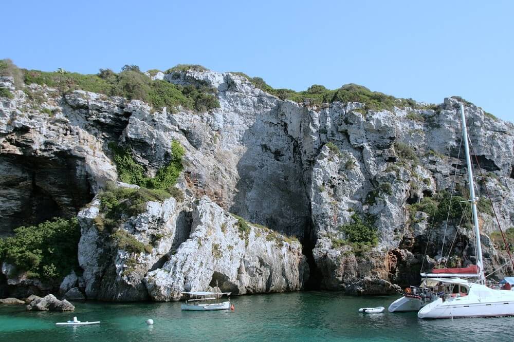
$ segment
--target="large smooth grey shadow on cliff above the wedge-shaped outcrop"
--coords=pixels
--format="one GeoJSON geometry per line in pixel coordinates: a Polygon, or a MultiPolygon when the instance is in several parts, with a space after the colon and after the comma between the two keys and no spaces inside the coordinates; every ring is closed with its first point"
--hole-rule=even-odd
{"type": "Polygon", "coordinates": [[[239,179],[229,211],[302,239],[310,222],[310,202],[300,148],[287,134],[286,124],[276,121],[271,110],[245,131],[246,152],[237,163],[239,179]]]}

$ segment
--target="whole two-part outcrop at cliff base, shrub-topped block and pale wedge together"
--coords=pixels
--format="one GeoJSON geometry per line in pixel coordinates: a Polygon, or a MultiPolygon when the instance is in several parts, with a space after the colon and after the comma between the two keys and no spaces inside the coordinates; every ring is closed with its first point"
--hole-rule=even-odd
{"type": "Polygon", "coordinates": [[[303,287],[308,266],[298,240],[247,226],[208,197],[182,204],[174,198],[148,202],[146,210],[120,227],[151,245],[140,254],[120,249],[99,231],[94,223],[98,201],[79,213],[79,262],[87,298],[177,300],[184,288],[198,291],[215,286],[216,280],[234,294],[303,287]],[[156,235],[159,240],[152,241],[156,235]]]}

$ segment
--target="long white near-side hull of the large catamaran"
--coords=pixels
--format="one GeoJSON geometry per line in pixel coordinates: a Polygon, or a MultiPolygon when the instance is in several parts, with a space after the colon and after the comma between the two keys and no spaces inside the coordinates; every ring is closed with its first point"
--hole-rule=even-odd
{"type": "Polygon", "coordinates": [[[514,301],[482,301],[443,305],[442,299],[428,304],[418,312],[418,318],[464,318],[514,316],[514,301]]]}

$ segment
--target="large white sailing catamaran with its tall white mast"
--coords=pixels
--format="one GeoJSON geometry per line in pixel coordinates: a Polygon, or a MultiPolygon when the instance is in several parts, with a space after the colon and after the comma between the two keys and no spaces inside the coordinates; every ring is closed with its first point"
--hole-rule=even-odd
{"type": "Polygon", "coordinates": [[[476,237],[476,282],[467,282],[459,278],[440,278],[443,295],[428,303],[418,312],[419,318],[457,318],[457,317],[494,317],[514,316],[514,291],[491,289],[486,286],[482,245],[478,215],[476,213],[473,171],[469,154],[468,136],[464,106],[461,104],[461,121],[463,140],[468,167],[469,193],[473,217],[473,229],[476,237]]]}

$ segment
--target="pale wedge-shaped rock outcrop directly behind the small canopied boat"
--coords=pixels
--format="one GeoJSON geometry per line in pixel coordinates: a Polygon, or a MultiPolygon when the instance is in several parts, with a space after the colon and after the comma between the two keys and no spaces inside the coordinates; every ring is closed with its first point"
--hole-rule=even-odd
{"type": "Polygon", "coordinates": [[[247,225],[203,197],[193,211],[190,238],[144,282],[153,300],[218,287],[234,295],[301,290],[308,265],[298,240],[247,225]]]}

